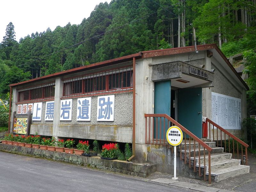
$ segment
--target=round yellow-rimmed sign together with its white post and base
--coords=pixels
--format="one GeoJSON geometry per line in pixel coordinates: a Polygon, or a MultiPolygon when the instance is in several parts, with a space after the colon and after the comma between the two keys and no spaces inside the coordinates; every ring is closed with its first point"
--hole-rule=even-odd
{"type": "Polygon", "coordinates": [[[176,177],[176,146],[180,145],[183,139],[183,133],[179,127],[172,126],[166,132],[166,139],[170,145],[174,146],[174,177],[172,179],[177,180],[178,177],[176,177]]]}

